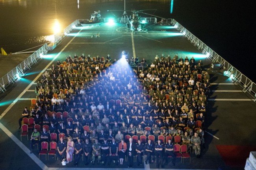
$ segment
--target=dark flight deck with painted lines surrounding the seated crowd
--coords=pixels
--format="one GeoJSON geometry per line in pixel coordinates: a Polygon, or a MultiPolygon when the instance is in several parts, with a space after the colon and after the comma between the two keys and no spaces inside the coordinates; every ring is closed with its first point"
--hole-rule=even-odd
{"type": "MultiPolygon", "coordinates": [[[[129,58],[132,56],[138,56],[140,60],[145,58],[148,64],[154,61],[156,55],[160,57],[161,54],[164,54],[165,56],[170,55],[173,57],[178,54],[184,58],[187,56],[189,59],[193,56],[196,61],[202,59],[205,69],[210,67],[210,61],[206,56],[198,51],[173,26],[161,24],[146,25],[147,32],[138,32],[138,34],[125,30],[126,28],[122,30],[120,29],[121,27],[122,24],[119,23],[115,23],[113,26],[108,26],[105,23],[96,26],[77,26],[50,54],[43,57],[29,73],[21,78],[17,85],[2,99],[0,107],[0,113],[2,113],[0,116],[0,150],[2,155],[4,155],[0,163],[2,169],[49,168],[55,170],[60,168],[80,169],[85,167],[99,170],[102,168],[126,169],[124,168],[127,167],[126,163],[123,166],[111,164],[110,166],[104,167],[102,164],[92,165],[91,163],[85,166],[82,159],[80,159],[77,166],[74,166],[73,162],[62,166],[61,161],[54,160],[50,156],[49,159],[45,156],[41,156],[39,159],[37,149],[34,149],[34,152],[30,154],[29,139],[32,133],[31,130],[29,131],[28,140],[26,139],[27,137],[22,137],[22,141],[20,140],[20,129],[17,129],[19,127],[18,119],[24,107],[30,107],[31,99],[36,96],[34,89],[37,80],[41,78],[45,70],[50,69],[51,65],[56,64],[58,60],[62,63],[66,57],[74,54],[85,54],[86,56],[90,54],[93,57],[96,57],[96,55],[106,57],[110,54],[112,60],[118,60],[121,57],[121,52],[125,51],[128,52],[129,58]]],[[[206,148],[201,150],[200,159],[197,159],[195,154],[191,152],[191,163],[189,163],[188,159],[185,159],[185,163],[181,163],[181,159],[177,158],[176,166],[168,163],[165,166],[166,169],[218,169],[220,166],[225,165],[226,159],[223,159],[219,152],[221,147],[218,150],[216,145],[243,146],[245,142],[246,145],[255,145],[256,135],[253,135],[253,132],[256,131],[256,127],[250,125],[255,122],[256,115],[252,112],[256,109],[256,105],[248,100],[239,101],[239,99],[251,98],[247,93],[238,92],[241,91],[241,88],[234,85],[228,77],[218,72],[212,72],[210,69],[208,69],[208,72],[211,76],[211,83],[213,83],[211,88],[213,91],[208,96],[211,100],[208,101],[206,112],[206,148]],[[223,91],[218,91],[218,89],[223,91]],[[228,94],[221,95],[224,91],[228,94]],[[226,100],[215,101],[215,99],[226,100]],[[237,100],[231,101],[231,99],[237,100]],[[228,109],[227,106],[229,106],[228,109]],[[241,108],[243,108],[244,113],[247,113],[247,116],[237,113],[237,110],[241,110],[241,108]],[[234,125],[234,122],[236,122],[236,125],[234,125]],[[239,128],[237,128],[238,126],[239,128]],[[237,132],[234,133],[234,129],[236,128],[237,132]],[[246,129],[250,129],[250,131],[246,129]],[[242,133],[243,135],[241,135],[242,133]]],[[[37,147],[35,146],[35,148],[37,147]]],[[[235,156],[239,157],[240,155],[235,156]]],[[[243,166],[240,164],[238,169],[241,169],[243,166]]],[[[154,169],[156,168],[156,164],[154,162],[150,165],[143,164],[137,166],[134,163],[133,168],[154,169]]]]}

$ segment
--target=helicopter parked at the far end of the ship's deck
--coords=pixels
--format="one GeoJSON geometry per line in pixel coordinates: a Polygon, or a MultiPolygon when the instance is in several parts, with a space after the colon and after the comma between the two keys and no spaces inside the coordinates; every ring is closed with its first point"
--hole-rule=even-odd
{"type": "MultiPolygon", "coordinates": [[[[145,29],[145,24],[147,24],[147,23],[146,23],[145,20],[141,21],[141,16],[139,15],[139,13],[143,13],[143,14],[146,14],[146,15],[151,15],[151,16],[154,16],[154,17],[165,19],[163,17],[159,17],[159,16],[156,16],[156,15],[152,15],[152,14],[142,12],[142,11],[148,11],[148,10],[155,10],[156,11],[156,9],[146,9],[146,10],[140,10],[140,11],[137,11],[137,10],[128,11],[128,12],[132,12],[132,18],[131,17],[128,18],[128,16],[126,15],[126,11],[124,11],[122,18],[124,17],[124,21],[127,21],[126,22],[127,28],[131,31],[134,31],[135,34],[137,34],[138,32],[142,32],[142,31],[147,32],[146,29],[145,29]],[[127,19],[126,19],[126,17],[127,17],[127,19]]],[[[122,10],[108,10],[108,11],[112,12],[112,11],[122,11],[122,10]]],[[[121,20],[121,22],[122,22],[122,20],[121,20]]]]}

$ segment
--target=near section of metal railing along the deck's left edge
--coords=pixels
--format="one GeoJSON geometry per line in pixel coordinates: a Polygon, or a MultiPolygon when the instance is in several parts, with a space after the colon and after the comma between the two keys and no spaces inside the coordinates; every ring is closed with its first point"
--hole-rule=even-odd
{"type": "Polygon", "coordinates": [[[0,92],[5,92],[8,85],[14,84],[17,80],[24,76],[24,72],[32,68],[32,66],[44,55],[46,55],[49,50],[50,48],[48,45],[44,44],[41,46],[41,48],[9,71],[6,75],[2,76],[2,78],[0,78],[0,92]]]}

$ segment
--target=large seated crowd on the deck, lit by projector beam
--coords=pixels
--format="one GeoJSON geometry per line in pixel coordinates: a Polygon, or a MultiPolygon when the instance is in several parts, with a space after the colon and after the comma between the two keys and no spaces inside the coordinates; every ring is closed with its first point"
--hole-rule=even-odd
{"type": "Polygon", "coordinates": [[[57,139],[56,155],[60,160],[66,158],[67,163],[74,161],[76,165],[83,156],[85,165],[91,160],[95,164],[95,157],[103,165],[122,165],[127,157],[131,168],[134,156],[140,166],[143,155],[147,155],[146,164],[156,155],[160,168],[168,163],[168,156],[175,165],[174,137],[181,136],[180,144],[193,148],[199,158],[210,87],[202,61],[176,54],[173,58],[156,56],[151,64],[138,57],[128,63],[134,69],[121,67],[110,55],[106,59],[69,55],[65,62],[52,65],[51,72],[46,70],[37,82],[36,104],[31,111],[25,107],[19,119],[19,128],[24,117],[33,117],[34,124],[41,125],[41,133],[33,129],[31,153],[34,144],[50,141],[51,133],[64,133],[57,139]],[[137,71],[139,65],[143,71],[137,71]],[[57,116],[57,112],[61,114],[57,116]],[[202,124],[196,129],[197,120],[202,124]],[[138,139],[145,135],[147,140],[125,141],[126,135],[137,135],[138,139]],[[150,135],[154,135],[153,141],[148,139],[150,135]],[[171,138],[163,142],[159,135],[171,138]]]}

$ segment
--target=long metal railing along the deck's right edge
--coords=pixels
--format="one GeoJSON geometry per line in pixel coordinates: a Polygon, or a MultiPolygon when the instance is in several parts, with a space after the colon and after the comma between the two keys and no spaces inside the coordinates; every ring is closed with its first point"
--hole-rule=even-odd
{"type": "MultiPolygon", "coordinates": [[[[219,63],[225,69],[224,75],[228,76],[233,83],[239,84],[243,87],[243,92],[249,92],[253,97],[256,98],[256,84],[247,78],[243,73],[241,73],[237,68],[233,67],[230,63],[224,60],[219,54],[213,51],[210,47],[208,47],[204,42],[198,39],[195,35],[189,32],[184,26],[178,23],[174,19],[164,20],[163,23],[168,23],[171,20],[171,24],[174,25],[180,33],[182,33],[187,39],[205,54],[208,59],[211,60],[212,63],[219,63]]],[[[254,100],[254,102],[256,99],[254,100]]]]}

